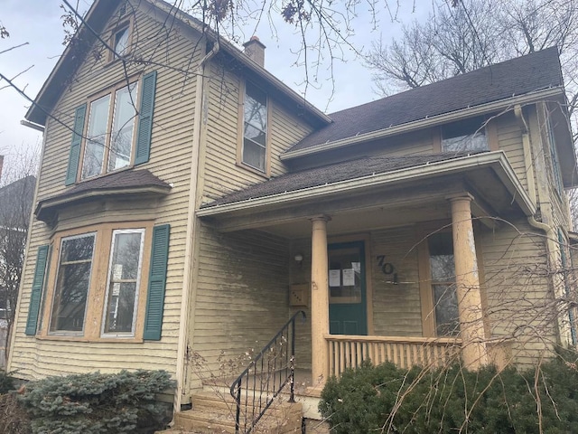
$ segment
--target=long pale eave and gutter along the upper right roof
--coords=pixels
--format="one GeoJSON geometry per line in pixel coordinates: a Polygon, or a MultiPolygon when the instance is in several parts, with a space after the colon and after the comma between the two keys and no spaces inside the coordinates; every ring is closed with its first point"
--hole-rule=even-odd
{"type": "Polygon", "coordinates": [[[406,124],[400,124],[393,127],[378,129],[377,131],[371,131],[365,134],[359,134],[358,136],[354,137],[346,137],[340,140],[335,140],[332,142],[327,142],[316,146],[306,147],[304,149],[296,149],[294,151],[290,150],[282,154],[280,156],[280,159],[282,161],[290,161],[294,160],[295,158],[300,158],[303,156],[312,156],[322,152],[340,149],[342,147],[351,146],[358,143],[367,142],[370,140],[396,136],[399,134],[404,134],[421,128],[434,127],[436,125],[441,125],[450,121],[459,120],[461,118],[470,118],[472,116],[496,112],[500,109],[501,110],[513,109],[514,106],[518,104],[524,105],[531,102],[536,102],[537,100],[540,99],[558,96],[560,94],[564,94],[564,88],[561,86],[556,86],[545,90],[536,90],[535,92],[527,93],[524,95],[511,97],[508,99],[499,99],[498,101],[492,101],[487,104],[481,104],[480,106],[469,107],[466,109],[459,109],[448,113],[443,113],[442,115],[433,116],[431,118],[423,118],[415,120],[413,122],[407,122],[406,124]]]}

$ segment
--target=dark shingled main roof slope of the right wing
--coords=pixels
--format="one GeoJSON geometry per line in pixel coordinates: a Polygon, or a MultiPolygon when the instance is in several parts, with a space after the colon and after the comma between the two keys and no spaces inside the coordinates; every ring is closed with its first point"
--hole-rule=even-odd
{"type": "Polygon", "coordinates": [[[563,85],[555,47],[332,113],[287,152],[563,85]]]}

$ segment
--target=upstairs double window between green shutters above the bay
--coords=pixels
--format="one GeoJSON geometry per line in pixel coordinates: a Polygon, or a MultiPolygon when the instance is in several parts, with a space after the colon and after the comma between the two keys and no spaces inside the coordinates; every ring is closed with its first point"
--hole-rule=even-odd
{"type": "Polygon", "coordinates": [[[90,103],[80,179],[130,165],[137,94],[134,82],[90,103]]]}

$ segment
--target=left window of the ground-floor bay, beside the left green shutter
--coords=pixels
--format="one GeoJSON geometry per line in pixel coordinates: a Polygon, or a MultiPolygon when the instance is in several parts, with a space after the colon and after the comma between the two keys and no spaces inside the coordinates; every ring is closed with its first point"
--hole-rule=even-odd
{"type": "Polygon", "coordinates": [[[82,335],[89,300],[96,232],[61,239],[52,310],[52,334],[82,335]]]}

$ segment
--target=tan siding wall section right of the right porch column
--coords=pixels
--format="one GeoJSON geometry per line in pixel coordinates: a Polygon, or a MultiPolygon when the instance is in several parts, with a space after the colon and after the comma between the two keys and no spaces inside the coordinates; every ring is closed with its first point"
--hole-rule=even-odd
{"type": "Polygon", "coordinates": [[[555,343],[555,316],[543,233],[524,221],[480,235],[493,336],[517,336],[517,363],[531,364],[555,343]],[[534,358],[534,359],[533,359],[534,358]]]}

